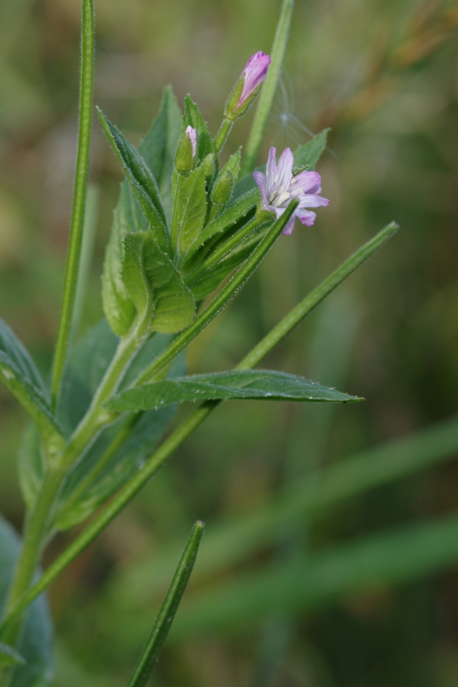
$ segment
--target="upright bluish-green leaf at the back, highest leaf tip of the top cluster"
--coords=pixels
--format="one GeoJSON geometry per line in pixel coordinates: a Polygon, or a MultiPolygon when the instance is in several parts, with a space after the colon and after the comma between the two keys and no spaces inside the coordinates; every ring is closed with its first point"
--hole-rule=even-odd
{"type": "Polygon", "coordinates": [[[139,153],[152,170],[164,206],[165,216],[172,218],[172,170],[181,136],[181,111],[172,87],[163,90],[162,102],[150,131],[139,145],[139,153]]]}

